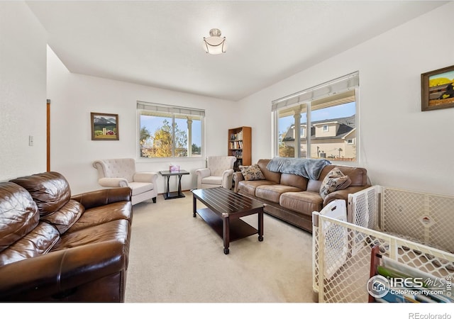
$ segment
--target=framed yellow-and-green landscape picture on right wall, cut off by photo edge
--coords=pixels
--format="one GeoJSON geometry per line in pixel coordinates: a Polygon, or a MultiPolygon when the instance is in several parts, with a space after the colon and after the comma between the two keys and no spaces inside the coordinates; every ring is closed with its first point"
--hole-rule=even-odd
{"type": "Polygon", "coordinates": [[[421,111],[454,107],[454,65],[421,74],[421,111]]]}

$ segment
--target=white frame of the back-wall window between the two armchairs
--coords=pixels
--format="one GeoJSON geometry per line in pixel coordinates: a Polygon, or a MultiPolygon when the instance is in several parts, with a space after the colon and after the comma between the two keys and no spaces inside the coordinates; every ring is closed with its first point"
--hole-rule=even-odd
{"type": "MultiPolygon", "coordinates": [[[[184,106],[173,106],[169,104],[160,104],[160,103],[150,103],[144,101],[137,101],[137,127],[136,127],[136,139],[135,145],[137,148],[136,156],[139,161],[145,162],[153,162],[153,161],[162,161],[162,160],[178,160],[178,161],[191,161],[191,160],[200,160],[205,158],[205,110],[199,108],[188,108],[184,106]],[[171,157],[142,157],[140,156],[140,116],[146,115],[146,113],[156,113],[160,116],[167,116],[168,118],[172,119],[172,123],[170,123],[172,127],[172,156],[171,157]],[[196,156],[189,156],[190,151],[188,149],[187,156],[175,156],[175,118],[181,118],[181,116],[188,116],[188,117],[199,117],[200,121],[200,147],[201,153],[200,155],[196,156]]],[[[194,121],[194,120],[193,120],[194,121]]],[[[188,147],[192,147],[192,143],[189,141],[189,136],[192,136],[192,133],[187,134],[188,138],[188,147]]]]}

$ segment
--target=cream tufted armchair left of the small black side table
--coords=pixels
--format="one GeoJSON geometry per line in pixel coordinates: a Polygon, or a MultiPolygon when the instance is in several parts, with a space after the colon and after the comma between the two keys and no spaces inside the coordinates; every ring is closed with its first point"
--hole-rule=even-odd
{"type": "Polygon", "coordinates": [[[135,172],[135,159],[99,159],[93,162],[98,170],[98,183],[104,187],[130,187],[134,205],[148,199],[156,203],[157,174],[151,172],[135,172]]]}

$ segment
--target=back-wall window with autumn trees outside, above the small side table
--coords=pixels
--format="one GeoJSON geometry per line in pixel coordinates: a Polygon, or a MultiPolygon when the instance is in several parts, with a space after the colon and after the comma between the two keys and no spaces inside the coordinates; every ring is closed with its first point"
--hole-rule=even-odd
{"type": "Polygon", "coordinates": [[[205,111],[137,102],[140,158],[202,157],[205,111]]]}

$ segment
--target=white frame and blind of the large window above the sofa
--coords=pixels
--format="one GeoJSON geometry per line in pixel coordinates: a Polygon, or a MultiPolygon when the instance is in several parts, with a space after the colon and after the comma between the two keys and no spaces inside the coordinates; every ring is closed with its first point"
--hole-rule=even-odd
{"type": "MultiPolygon", "coordinates": [[[[306,108],[305,113],[306,113],[306,131],[311,128],[313,123],[316,123],[316,121],[312,122],[311,121],[311,111],[315,111],[318,109],[317,106],[320,106],[320,101],[322,99],[326,99],[330,96],[333,96],[335,94],[348,94],[347,92],[353,92],[354,96],[354,101],[355,101],[355,141],[353,142],[353,145],[355,145],[355,148],[357,152],[355,153],[355,160],[354,161],[343,161],[342,159],[336,160],[336,163],[356,163],[358,164],[360,162],[360,150],[359,144],[360,144],[360,121],[359,121],[359,72],[353,72],[350,74],[346,74],[343,77],[338,77],[337,79],[333,79],[331,81],[325,82],[323,84],[319,84],[317,86],[313,86],[309,89],[304,89],[302,91],[299,91],[294,94],[290,94],[289,96],[284,96],[281,99],[277,99],[275,101],[272,101],[272,157],[278,157],[279,156],[279,111],[284,111],[284,110],[289,110],[291,108],[295,108],[298,105],[306,108]],[[312,102],[315,102],[314,104],[314,110],[312,110],[312,102]],[[317,103],[318,102],[318,103],[317,103]]],[[[351,96],[350,95],[350,96],[351,96]]],[[[340,103],[338,105],[342,105],[343,103],[340,103]]],[[[330,107],[330,106],[326,106],[330,107]]],[[[301,125],[301,123],[298,123],[301,125]]],[[[294,123],[294,127],[297,125],[297,123],[294,123]]],[[[322,128],[323,129],[323,128],[322,128]]],[[[328,128],[329,130],[329,128],[328,128]]],[[[294,129],[294,133],[296,133],[296,129],[294,129]]],[[[299,145],[299,140],[295,137],[294,145],[299,145]]],[[[300,156],[301,152],[301,146],[300,147],[295,147],[294,150],[294,158],[314,158],[311,157],[311,135],[307,135],[306,138],[306,156],[300,156]],[[309,155],[309,156],[308,156],[309,155]]],[[[352,145],[352,144],[350,144],[352,145]]]]}

